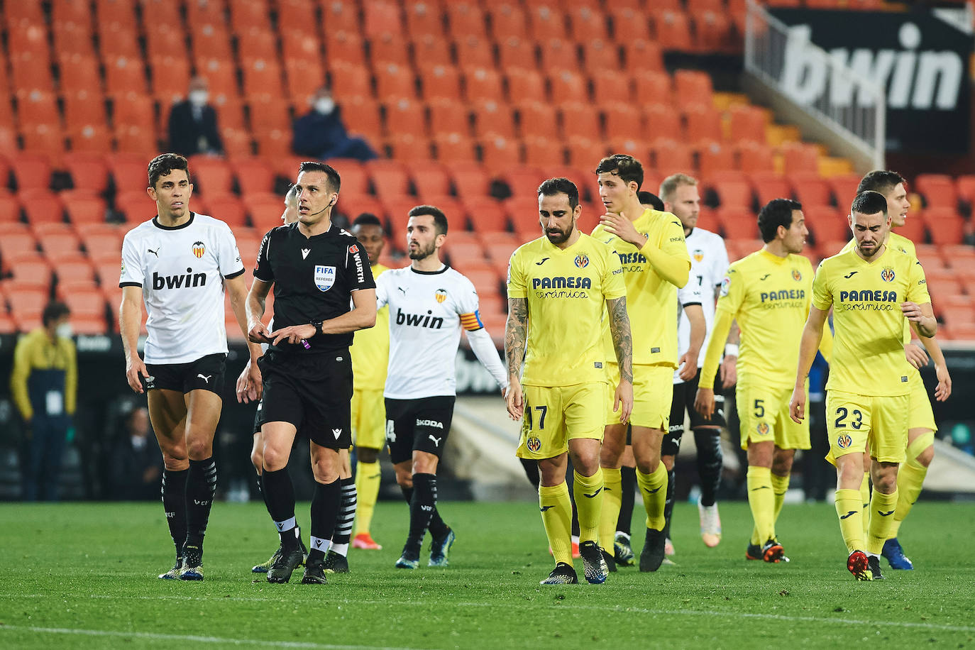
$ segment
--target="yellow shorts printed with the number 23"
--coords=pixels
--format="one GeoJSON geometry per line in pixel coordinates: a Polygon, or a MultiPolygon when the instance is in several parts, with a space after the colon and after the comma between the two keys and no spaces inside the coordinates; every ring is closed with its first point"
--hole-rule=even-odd
{"type": "Polygon", "coordinates": [[[826,431],[830,453],[826,460],[848,453],[863,453],[870,442],[870,455],[882,463],[903,463],[908,445],[911,396],[875,397],[842,391],[826,392],[826,431]]]}

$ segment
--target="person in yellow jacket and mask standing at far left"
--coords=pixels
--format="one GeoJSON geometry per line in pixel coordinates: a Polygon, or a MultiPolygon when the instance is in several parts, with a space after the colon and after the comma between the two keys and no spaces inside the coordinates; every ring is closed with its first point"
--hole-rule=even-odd
{"type": "Polygon", "coordinates": [[[20,473],[24,501],[57,501],[61,452],[77,398],[78,363],[70,311],[63,302],[44,308],[42,326],[14,349],[11,393],[25,424],[20,473]]]}

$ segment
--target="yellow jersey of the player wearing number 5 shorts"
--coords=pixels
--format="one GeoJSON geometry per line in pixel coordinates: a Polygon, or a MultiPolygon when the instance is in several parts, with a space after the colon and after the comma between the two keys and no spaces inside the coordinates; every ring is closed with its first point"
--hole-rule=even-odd
{"type": "MultiPolygon", "coordinates": [[[[741,329],[740,384],[769,388],[795,384],[812,277],[812,263],[802,255],[779,257],[765,249],[728,267],[716,309],[728,313],[741,329]]],[[[715,346],[714,352],[709,346],[705,365],[717,368],[721,351],[722,345],[715,346]]]]}

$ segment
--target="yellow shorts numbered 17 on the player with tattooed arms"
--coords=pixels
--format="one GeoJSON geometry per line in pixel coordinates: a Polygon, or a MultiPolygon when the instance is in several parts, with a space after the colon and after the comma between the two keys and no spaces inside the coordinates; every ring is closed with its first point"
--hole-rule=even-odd
{"type": "Polygon", "coordinates": [[[603,440],[605,385],[590,382],[546,388],[525,387],[525,420],[519,458],[554,458],[576,438],[603,440]]]}

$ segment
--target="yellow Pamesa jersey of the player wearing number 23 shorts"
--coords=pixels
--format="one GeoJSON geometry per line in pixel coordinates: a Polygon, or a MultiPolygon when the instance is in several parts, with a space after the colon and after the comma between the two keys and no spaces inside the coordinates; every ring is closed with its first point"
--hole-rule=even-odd
{"type": "Polygon", "coordinates": [[[912,366],[904,357],[901,303],[931,302],[916,257],[885,249],[871,261],[855,250],[820,263],[812,283],[812,304],[833,307],[836,340],[827,390],[863,396],[910,393],[912,366]]]}

